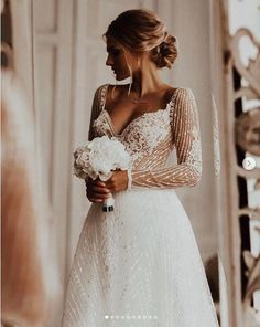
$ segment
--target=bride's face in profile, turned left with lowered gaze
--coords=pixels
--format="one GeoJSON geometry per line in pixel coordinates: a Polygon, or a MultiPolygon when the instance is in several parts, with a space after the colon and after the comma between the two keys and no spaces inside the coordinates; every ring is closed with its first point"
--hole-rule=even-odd
{"type": "Polygon", "coordinates": [[[131,67],[134,71],[134,64],[137,63],[137,55],[123,50],[122,45],[112,38],[107,38],[107,61],[106,65],[110,66],[116,75],[117,81],[122,81],[130,76],[131,67]]]}

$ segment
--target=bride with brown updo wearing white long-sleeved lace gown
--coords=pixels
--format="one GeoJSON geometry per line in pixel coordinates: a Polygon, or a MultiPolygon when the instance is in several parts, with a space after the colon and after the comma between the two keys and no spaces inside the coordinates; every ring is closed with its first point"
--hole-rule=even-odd
{"type": "Polygon", "coordinates": [[[106,34],[116,80],[95,95],[89,139],[116,137],[132,170],[87,181],[91,205],[71,273],[63,326],[218,326],[188,218],[174,191],[202,175],[199,125],[189,88],[162,82],[176,40],[148,10],[121,13],[106,34]],[[175,149],[177,165],[166,167],[175,149]],[[101,202],[113,193],[113,212],[101,202]]]}

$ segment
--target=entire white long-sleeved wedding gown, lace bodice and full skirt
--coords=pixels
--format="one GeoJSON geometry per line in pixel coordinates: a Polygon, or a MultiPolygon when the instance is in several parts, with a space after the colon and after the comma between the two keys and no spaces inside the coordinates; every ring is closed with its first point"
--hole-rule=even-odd
{"type": "MultiPolygon", "coordinates": [[[[115,193],[115,211],[91,204],[71,272],[63,327],[216,327],[204,266],[175,188],[202,175],[199,124],[189,88],[164,109],[132,120],[118,135],[95,95],[89,138],[108,135],[132,159],[132,189],[115,193]],[[165,167],[172,150],[177,165],[165,167]]],[[[193,191],[191,189],[191,191],[193,191]]]]}

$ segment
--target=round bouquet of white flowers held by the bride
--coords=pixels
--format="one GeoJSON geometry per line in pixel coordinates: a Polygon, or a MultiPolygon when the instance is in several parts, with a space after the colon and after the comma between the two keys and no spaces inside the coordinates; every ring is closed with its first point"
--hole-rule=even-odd
{"type": "MultiPolygon", "coordinates": [[[[82,179],[108,180],[116,169],[130,169],[130,155],[116,138],[96,137],[74,152],[74,173],[82,179]]],[[[102,203],[102,211],[112,211],[112,194],[102,203]]]]}

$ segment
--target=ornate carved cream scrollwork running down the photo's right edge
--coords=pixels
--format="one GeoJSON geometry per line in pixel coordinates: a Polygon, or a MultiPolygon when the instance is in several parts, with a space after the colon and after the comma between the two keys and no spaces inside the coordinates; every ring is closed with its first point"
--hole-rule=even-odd
{"type": "MultiPolygon", "coordinates": [[[[238,91],[229,89],[229,92],[232,93],[232,106],[230,105],[229,110],[231,109],[234,113],[234,106],[237,99],[246,97],[246,99],[248,101],[248,99],[258,99],[260,97],[260,78],[259,78],[260,43],[256,40],[251,31],[245,28],[239,29],[237,33],[234,36],[231,36],[229,40],[230,40],[230,50],[231,50],[231,61],[230,61],[231,66],[228,74],[230,74],[231,76],[232,66],[234,66],[237,70],[237,72],[240,74],[241,80],[245,78],[248,83],[247,87],[240,87],[238,91]],[[258,50],[256,59],[254,60],[249,59],[247,66],[245,66],[245,64],[241,62],[240,51],[239,51],[239,43],[241,41],[241,38],[243,36],[248,36],[252,42],[252,44],[258,50]]],[[[241,102],[241,104],[243,105],[243,102],[241,102]]],[[[243,149],[245,154],[251,152],[254,156],[259,156],[258,147],[256,146],[254,143],[252,144],[254,139],[254,136],[252,135],[252,133],[256,128],[258,128],[258,126],[256,126],[256,120],[258,120],[256,119],[256,117],[258,115],[259,115],[258,108],[251,108],[247,112],[245,110],[237,119],[232,120],[234,123],[232,127],[236,128],[236,139],[234,139],[234,141],[239,144],[239,146],[243,149]]],[[[234,144],[234,147],[235,147],[235,144],[234,144]]],[[[254,178],[258,180],[260,178],[260,168],[254,168],[253,170],[246,170],[237,164],[236,157],[231,158],[230,164],[231,164],[231,169],[236,173],[235,176],[236,180],[238,176],[243,177],[245,179],[254,178]]],[[[237,188],[236,180],[232,180],[231,187],[234,188],[237,188]]],[[[232,202],[232,205],[236,207],[235,209],[237,210],[237,215],[235,214],[235,211],[234,211],[234,219],[236,219],[236,221],[234,222],[236,223],[237,226],[239,226],[239,219],[241,217],[246,217],[247,219],[250,220],[250,222],[251,221],[260,222],[260,208],[250,208],[250,207],[239,208],[238,199],[234,199],[231,200],[231,202],[232,202]]],[[[230,225],[230,229],[231,228],[232,226],[230,225]]],[[[229,234],[231,233],[234,233],[232,230],[230,230],[229,234]]],[[[237,234],[237,238],[239,238],[239,242],[241,242],[241,233],[242,233],[242,230],[240,230],[240,233],[237,234]]],[[[231,247],[230,250],[236,254],[239,254],[239,252],[241,251],[240,246],[239,249],[231,247]]],[[[243,319],[241,321],[243,323],[242,326],[250,327],[250,326],[254,326],[253,324],[256,323],[256,310],[251,306],[251,299],[254,291],[260,288],[260,276],[259,276],[260,256],[254,257],[250,251],[246,250],[246,251],[242,251],[242,253],[240,252],[240,255],[235,255],[234,257],[237,262],[234,262],[230,264],[232,265],[235,264],[236,266],[238,264],[240,265],[241,254],[243,256],[243,260],[247,266],[246,275],[248,276],[248,281],[247,281],[247,287],[246,287],[243,298],[236,306],[236,310],[237,310],[236,316],[238,320],[238,317],[240,315],[238,310],[240,306],[240,308],[242,308],[242,316],[243,316],[243,319]]],[[[235,274],[234,279],[237,281],[235,282],[234,286],[237,289],[241,289],[241,285],[238,283],[239,279],[236,278],[236,275],[240,274],[240,271],[236,270],[234,274],[235,274]]],[[[236,298],[235,300],[238,300],[238,298],[236,298]]],[[[240,321],[238,323],[241,324],[240,321]]]]}

